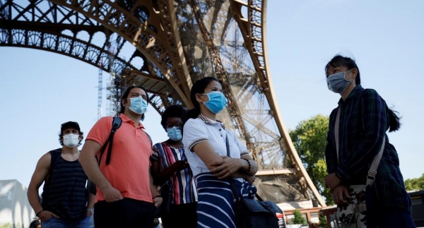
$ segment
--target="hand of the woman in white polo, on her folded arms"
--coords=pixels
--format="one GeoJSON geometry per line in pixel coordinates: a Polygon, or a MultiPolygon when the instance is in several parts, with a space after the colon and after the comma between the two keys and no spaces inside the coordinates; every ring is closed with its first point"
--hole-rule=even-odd
{"type": "Polygon", "coordinates": [[[226,179],[242,167],[243,160],[240,158],[232,158],[227,156],[223,156],[222,158],[223,160],[220,162],[212,162],[210,164],[211,166],[215,167],[211,169],[211,173],[218,177],[218,179],[226,179]]]}

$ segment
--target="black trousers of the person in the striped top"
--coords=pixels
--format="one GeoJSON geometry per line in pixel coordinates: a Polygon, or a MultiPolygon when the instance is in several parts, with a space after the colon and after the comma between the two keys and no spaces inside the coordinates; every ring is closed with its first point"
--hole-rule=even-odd
{"type": "Polygon", "coordinates": [[[197,203],[171,203],[170,212],[165,213],[161,220],[164,228],[197,228],[197,203]]]}

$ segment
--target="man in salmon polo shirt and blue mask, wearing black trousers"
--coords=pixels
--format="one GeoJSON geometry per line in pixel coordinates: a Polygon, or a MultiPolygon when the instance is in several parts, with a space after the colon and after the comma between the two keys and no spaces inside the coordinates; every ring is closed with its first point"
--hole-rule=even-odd
{"type": "Polygon", "coordinates": [[[146,90],[131,86],[121,100],[121,126],[114,133],[110,162],[108,147],[100,157],[112,129],[112,117],[102,117],[88,133],[80,163],[97,186],[94,225],[102,227],[151,227],[156,208],[162,203],[150,174],[152,143],[143,130],[148,104],[146,90]],[[98,160],[100,160],[100,167],[98,160]]]}

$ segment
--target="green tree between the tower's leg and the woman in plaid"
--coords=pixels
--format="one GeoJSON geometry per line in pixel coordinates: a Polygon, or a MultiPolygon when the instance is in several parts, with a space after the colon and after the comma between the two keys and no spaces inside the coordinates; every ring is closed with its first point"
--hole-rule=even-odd
{"type": "Polygon", "coordinates": [[[319,194],[324,196],[327,205],[332,205],[334,202],[330,190],[324,185],[324,177],[327,175],[324,153],[328,130],[329,116],[319,114],[300,121],[289,135],[319,194]]]}

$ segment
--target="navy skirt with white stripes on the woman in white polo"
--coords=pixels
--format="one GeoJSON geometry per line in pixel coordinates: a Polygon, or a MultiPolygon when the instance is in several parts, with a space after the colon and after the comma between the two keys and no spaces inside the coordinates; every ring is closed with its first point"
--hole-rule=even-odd
{"type": "MultiPolygon", "coordinates": [[[[197,181],[197,227],[236,228],[232,210],[235,198],[230,183],[217,179],[211,173],[196,176],[197,181]]],[[[243,197],[253,198],[256,187],[248,182],[234,181],[237,192],[243,197]]]]}

